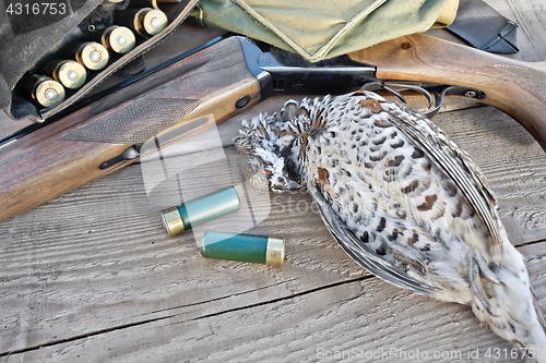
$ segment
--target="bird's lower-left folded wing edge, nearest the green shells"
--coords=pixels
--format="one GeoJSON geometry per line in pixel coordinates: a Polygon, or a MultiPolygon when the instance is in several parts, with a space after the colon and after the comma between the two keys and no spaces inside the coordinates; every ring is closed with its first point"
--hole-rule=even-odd
{"type": "Polygon", "coordinates": [[[435,291],[438,289],[414,279],[363,244],[347,225],[332,210],[318,184],[310,185],[310,192],[328,230],[356,263],[377,277],[399,288],[412,290],[424,295],[435,295],[435,291]]]}

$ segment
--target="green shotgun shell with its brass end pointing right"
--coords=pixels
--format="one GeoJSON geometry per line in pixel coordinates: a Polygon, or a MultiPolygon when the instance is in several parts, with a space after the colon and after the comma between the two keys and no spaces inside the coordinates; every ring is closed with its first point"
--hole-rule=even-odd
{"type": "Polygon", "coordinates": [[[206,231],[201,255],[282,267],[284,245],[284,239],[277,237],[206,231]]]}

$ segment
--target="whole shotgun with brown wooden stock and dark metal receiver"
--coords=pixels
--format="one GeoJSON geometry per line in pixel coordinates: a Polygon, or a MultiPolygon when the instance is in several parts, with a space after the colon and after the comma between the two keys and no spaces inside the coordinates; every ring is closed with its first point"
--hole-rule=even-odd
{"type": "Polygon", "coordinates": [[[432,111],[446,94],[495,106],[546,150],[546,73],[538,65],[424,35],[310,64],[227,36],[0,141],[0,220],[134,162],[146,141],[176,133],[185,121],[213,114],[221,122],[275,94],[393,89],[400,82],[392,81],[439,96],[432,111]]]}

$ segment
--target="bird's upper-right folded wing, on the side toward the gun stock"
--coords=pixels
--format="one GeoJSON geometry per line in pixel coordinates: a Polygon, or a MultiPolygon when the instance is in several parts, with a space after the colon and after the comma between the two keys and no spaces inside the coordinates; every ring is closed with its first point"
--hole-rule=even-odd
{"type": "Polygon", "coordinates": [[[430,120],[405,105],[391,101],[388,105],[381,106],[391,113],[390,121],[425,150],[430,160],[455,183],[484,221],[491,235],[490,240],[485,241],[487,247],[485,252],[491,257],[500,258],[501,262],[505,255],[502,226],[497,211],[497,201],[485,176],[470,156],[430,120]]]}

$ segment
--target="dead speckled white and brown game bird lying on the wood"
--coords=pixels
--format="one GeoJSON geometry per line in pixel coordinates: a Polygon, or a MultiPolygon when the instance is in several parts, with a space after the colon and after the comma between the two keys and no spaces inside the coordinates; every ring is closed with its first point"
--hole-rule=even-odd
{"type": "Polygon", "coordinates": [[[505,339],[546,348],[489,184],[420,113],[368,92],[290,100],[244,121],[236,145],[263,162],[272,190],[305,185],[335,240],[372,274],[470,304],[505,339]]]}

